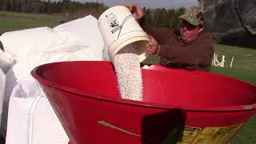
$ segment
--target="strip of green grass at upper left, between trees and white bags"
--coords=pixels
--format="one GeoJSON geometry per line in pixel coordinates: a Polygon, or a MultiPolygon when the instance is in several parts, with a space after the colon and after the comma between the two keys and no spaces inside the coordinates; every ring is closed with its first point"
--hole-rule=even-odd
{"type": "Polygon", "coordinates": [[[22,30],[34,27],[57,26],[64,20],[64,14],[26,14],[10,11],[0,11],[0,34],[12,30],[22,30]]]}

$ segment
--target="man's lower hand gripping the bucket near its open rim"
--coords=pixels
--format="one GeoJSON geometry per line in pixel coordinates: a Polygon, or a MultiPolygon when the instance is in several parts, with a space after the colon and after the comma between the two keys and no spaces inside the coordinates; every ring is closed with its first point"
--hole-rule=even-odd
{"type": "Polygon", "coordinates": [[[160,46],[158,42],[151,35],[148,34],[148,36],[150,38],[150,42],[146,44],[146,53],[150,55],[159,54],[160,46]]]}

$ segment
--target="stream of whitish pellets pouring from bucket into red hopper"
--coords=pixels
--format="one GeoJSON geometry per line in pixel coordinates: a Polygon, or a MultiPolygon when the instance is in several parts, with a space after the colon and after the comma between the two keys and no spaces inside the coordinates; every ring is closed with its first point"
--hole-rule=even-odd
{"type": "Polygon", "coordinates": [[[138,54],[132,44],[114,56],[113,64],[118,78],[118,90],[124,99],[142,101],[142,71],[138,54]]]}

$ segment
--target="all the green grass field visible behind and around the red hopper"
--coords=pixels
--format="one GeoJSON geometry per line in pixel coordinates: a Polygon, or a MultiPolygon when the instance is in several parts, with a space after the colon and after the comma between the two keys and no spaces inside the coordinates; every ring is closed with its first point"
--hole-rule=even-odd
{"type": "MultiPolygon", "coordinates": [[[[65,20],[64,14],[21,14],[0,11],[0,34],[10,30],[21,30],[38,26],[57,26],[65,20]]],[[[226,56],[224,68],[213,67],[211,72],[223,74],[232,78],[238,78],[245,82],[256,84],[256,50],[242,47],[215,45],[215,53],[226,56]],[[231,58],[234,57],[233,66],[230,69],[231,58]]],[[[146,63],[157,63],[158,57],[146,59],[146,63]]],[[[256,143],[256,116],[244,126],[242,131],[231,141],[233,144],[256,143]]]]}

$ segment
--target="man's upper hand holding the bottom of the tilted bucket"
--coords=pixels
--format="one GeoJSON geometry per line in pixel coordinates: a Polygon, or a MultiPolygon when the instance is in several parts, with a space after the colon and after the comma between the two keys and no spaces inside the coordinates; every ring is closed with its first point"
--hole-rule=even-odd
{"type": "Polygon", "coordinates": [[[126,6],[129,10],[130,13],[134,15],[134,18],[139,21],[142,17],[144,17],[145,13],[142,10],[142,8],[136,4],[133,3],[127,3],[123,6],[126,6]]]}

